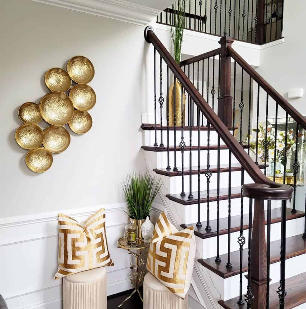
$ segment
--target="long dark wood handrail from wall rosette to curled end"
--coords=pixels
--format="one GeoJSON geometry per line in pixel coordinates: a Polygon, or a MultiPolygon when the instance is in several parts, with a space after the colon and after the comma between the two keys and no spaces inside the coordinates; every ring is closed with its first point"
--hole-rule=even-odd
{"type": "Polygon", "coordinates": [[[183,85],[184,89],[191,96],[192,100],[199,107],[206,119],[215,128],[239,163],[254,180],[255,184],[246,184],[242,186],[243,196],[269,200],[290,199],[292,197],[293,188],[286,184],[276,184],[264,176],[259,167],[229,132],[217,114],[213,111],[209,104],[207,104],[200,92],[196,90],[196,87],[191,83],[186,74],[184,74],[180,66],[175,62],[173,57],[151,29],[152,28],[150,26],[145,29],[146,41],[153,44],[155,49],[162,56],[163,60],[166,62],[178,81],[183,85]]]}

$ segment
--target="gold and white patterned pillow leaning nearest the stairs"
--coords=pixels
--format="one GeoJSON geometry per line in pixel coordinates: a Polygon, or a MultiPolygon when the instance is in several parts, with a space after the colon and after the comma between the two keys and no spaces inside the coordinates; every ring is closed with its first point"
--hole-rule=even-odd
{"type": "Polygon", "coordinates": [[[166,214],[155,224],[147,259],[147,270],[170,291],[185,298],[192,277],[196,239],[194,227],[178,231],[166,214]]]}

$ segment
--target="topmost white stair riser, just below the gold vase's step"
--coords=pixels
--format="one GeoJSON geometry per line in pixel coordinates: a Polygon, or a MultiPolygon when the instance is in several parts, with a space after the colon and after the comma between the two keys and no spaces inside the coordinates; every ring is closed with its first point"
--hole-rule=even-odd
{"type": "MultiPolygon", "coordinates": [[[[198,131],[191,131],[191,144],[192,146],[198,145],[198,131]]],[[[200,131],[200,145],[207,145],[207,131],[200,131]]],[[[181,131],[176,131],[176,145],[178,146],[181,142],[182,133],[181,131]]],[[[190,144],[190,137],[189,137],[189,131],[184,131],[184,142],[186,146],[189,146],[190,144]]],[[[158,145],[160,145],[161,141],[161,133],[160,130],[156,131],[156,140],[158,145]]],[[[174,146],[174,130],[169,131],[169,146],[174,146]]],[[[145,146],[153,146],[155,143],[155,131],[154,130],[145,130],[143,131],[143,145],[145,146]]],[[[210,130],[209,132],[209,143],[210,145],[217,145],[218,144],[218,135],[217,132],[214,130],[210,130]]],[[[163,144],[165,146],[168,145],[167,142],[167,131],[163,130],[163,144]]],[[[222,139],[220,138],[220,145],[225,145],[222,139]]]]}

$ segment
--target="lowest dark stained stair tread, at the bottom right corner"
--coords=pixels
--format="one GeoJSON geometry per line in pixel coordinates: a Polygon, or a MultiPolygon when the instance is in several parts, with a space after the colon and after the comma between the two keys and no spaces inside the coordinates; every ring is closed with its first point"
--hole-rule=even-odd
{"type": "MultiPolygon", "coordinates": [[[[303,303],[306,303],[306,273],[301,273],[294,277],[286,279],[285,309],[295,308],[303,303]]],[[[270,285],[270,309],[279,309],[279,297],[276,293],[279,287],[279,282],[270,285]]],[[[229,299],[227,301],[220,300],[218,303],[225,309],[246,309],[244,305],[237,304],[238,297],[229,299]]]]}

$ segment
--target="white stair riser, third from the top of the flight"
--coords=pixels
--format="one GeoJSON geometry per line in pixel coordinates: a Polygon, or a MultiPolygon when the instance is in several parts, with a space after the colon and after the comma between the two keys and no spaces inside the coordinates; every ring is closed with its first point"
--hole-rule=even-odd
{"type": "MultiPolygon", "coordinates": [[[[157,175],[158,176],[158,175],[157,175]]],[[[167,177],[167,176],[166,176],[167,177]]],[[[169,177],[170,178],[170,194],[176,194],[182,192],[182,176],[169,177]]],[[[189,192],[189,175],[184,175],[184,192],[189,192]]],[[[217,173],[213,173],[209,180],[209,190],[217,189],[217,173]]],[[[191,191],[198,191],[198,175],[191,176],[191,191]]],[[[244,183],[252,184],[254,181],[245,172],[244,183]]],[[[234,171],[231,173],[231,188],[241,186],[241,171],[234,171]]],[[[223,172],[220,174],[220,188],[229,187],[229,173],[223,172]]],[[[205,174],[200,174],[200,191],[207,190],[207,178],[205,174]]]]}

